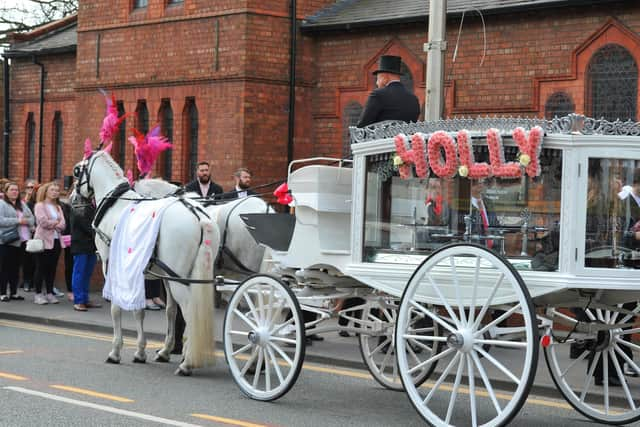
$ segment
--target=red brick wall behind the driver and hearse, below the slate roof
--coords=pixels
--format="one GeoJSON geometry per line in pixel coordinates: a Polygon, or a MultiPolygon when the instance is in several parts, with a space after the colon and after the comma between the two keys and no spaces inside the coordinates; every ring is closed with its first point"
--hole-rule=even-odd
{"type": "MultiPolygon", "coordinates": [[[[545,100],[556,91],[567,92],[576,111],[588,113],[584,72],[590,55],[606,43],[619,43],[640,64],[639,12],[640,5],[617,2],[606,7],[487,15],[487,51],[482,65],[478,16],[467,14],[465,18],[455,64],[452,56],[460,20],[449,19],[446,114],[543,116],[545,100]]],[[[405,59],[412,69],[416,95],[424,102],[424,25],[323,33],[313,38],[315,155],[340,153],[342,111],[351,101],[364,105],[373,89],[368,71],[375,69],[382,54],[399,54],[405,59]]]]}

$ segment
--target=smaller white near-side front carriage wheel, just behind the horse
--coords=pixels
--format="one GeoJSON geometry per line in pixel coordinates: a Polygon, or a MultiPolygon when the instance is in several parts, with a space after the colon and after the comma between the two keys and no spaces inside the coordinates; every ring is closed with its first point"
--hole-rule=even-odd
{"type": "Polygon", "coordinates": [[[224,318],[224,354],[233,379],[255,400],[282,397],[304,361],[304,320],[287,285],[267,275],[242,282],[224,318]]]}

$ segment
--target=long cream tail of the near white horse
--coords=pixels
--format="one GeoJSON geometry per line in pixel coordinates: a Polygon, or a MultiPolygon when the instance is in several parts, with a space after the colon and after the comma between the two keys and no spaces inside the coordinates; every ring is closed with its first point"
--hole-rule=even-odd
{"type": "Polygon", "coordinates": [[[187,319],[187,351],[191,356],[192,367],[202,367],[215,363],[214,329],[214,284],[213,263],[215,251],[220,241],[216,224],[209,219],[200,220],[202,243],[198,248],[192,279],[207,279],[212,283],[192,283],[187,319]]]}

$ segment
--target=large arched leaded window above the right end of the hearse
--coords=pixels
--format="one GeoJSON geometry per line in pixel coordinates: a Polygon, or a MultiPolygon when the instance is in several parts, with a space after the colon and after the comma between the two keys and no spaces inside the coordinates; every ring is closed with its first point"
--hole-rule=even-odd
{"type": "Polygon", "coordinates": [[[638,65],[624,47],[607,44],[587,67],[586,112],[593,118],[636,120],[638,65]]]}

